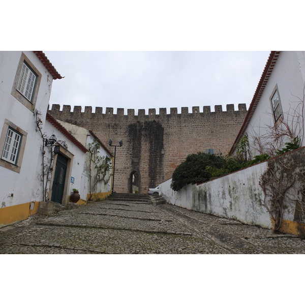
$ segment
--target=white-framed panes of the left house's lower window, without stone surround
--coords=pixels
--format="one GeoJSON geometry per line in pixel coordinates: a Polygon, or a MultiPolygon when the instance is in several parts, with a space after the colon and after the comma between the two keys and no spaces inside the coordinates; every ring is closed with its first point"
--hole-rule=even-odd
{"type": "Polygon", "coordinates": [[[2,159],[16,164],[22,135],[9,128],[2,151],[2,159]]]}

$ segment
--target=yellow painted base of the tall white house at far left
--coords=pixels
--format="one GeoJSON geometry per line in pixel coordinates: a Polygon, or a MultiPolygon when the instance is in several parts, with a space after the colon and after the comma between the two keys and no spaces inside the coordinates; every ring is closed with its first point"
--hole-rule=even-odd
{"type": "Polygon", "coordinates": [[[29,216],[37,213],[39,202],[34,202],[34,208],[31,207],[31,202],[7,206],[0,208],[0,227],[15,223],[17,221],[25,220],[29,216]]]}

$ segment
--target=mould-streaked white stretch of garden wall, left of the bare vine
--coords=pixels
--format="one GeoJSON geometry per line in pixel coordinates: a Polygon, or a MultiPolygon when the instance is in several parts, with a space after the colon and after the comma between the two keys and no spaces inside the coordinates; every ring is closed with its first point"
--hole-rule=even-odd
{"type": "Polygon", "coordinates": [[[258,184],[266,167],[263,162],[204,184],[188,185],[178,192],[170,188],[169,179],[160,185],[160,195],[176,206],[271,229],[258,184]]]}

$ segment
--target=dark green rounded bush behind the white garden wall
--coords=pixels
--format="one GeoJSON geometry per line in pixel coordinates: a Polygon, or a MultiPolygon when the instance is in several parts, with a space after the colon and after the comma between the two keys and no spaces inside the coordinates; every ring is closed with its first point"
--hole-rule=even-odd
{"type": "Polygon", "coordinates": [[[205,170],[207,166],[223,168],[225,164],[226,161],[221,156],[205,153],[189,155],[173,172],[170,187],[179,191],[190,183],[205,182],[212,177],[212,174],[205,170]]]}

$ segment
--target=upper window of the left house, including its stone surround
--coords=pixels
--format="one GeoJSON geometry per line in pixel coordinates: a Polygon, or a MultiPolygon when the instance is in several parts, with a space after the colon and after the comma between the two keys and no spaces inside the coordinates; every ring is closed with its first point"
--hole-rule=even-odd
{"type": "Polygon", "coordinates": [[[31,60],[21,52],[11,94],[33,113],[35,112],[41,79],[41,73],[31,60]]]}

